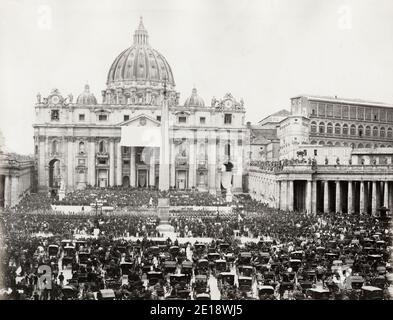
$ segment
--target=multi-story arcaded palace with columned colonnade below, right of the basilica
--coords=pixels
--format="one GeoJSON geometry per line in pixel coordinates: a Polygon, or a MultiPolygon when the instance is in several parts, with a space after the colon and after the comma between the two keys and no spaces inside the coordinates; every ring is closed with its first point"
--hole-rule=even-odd
{"type": "Polygon", "coordinates": [[[309,213],[393,209],[392,105],[298,96],[288,116],[267,119],[259,130],[276,128],[279,155],[253,159],[252,197],[309,213]]]}

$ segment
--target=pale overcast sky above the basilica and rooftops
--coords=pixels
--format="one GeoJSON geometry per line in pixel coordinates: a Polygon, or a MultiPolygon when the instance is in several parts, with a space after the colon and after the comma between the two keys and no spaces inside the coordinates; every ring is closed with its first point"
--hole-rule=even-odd
{"type": "Polygon", "coordinates": [[[255,123],[292,96],[393,103],[391,0],[1,0],[0,128],[32,153],[36,94],[101,90],[139,17],[172,67],[181,103],[195,85],[243,98],[255,123]]]}

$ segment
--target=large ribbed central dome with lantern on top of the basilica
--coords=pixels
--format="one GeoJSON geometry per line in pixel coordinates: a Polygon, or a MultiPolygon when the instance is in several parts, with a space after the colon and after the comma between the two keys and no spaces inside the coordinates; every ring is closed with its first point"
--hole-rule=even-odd
{"type": "Polygon", "coordinates": [[[142,18],[135,31],[133,45],[117,56],[107,78],[107,85],[111,89],[135,85],[135,82],[149,82],[153,86],[166,82],[175,86],[171,67],[165,57],[148,43],[142,18]]]}

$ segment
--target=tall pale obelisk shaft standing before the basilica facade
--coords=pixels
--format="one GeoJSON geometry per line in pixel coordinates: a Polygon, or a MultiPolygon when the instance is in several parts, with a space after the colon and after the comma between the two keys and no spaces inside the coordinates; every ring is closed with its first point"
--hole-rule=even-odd
{"type": "Polygon", "coordinates": [[[164,82],[164,99],[161,108],[161,147],[160,147],[160,191],[169,190],[169,108],[166,81],[164,82]]]}

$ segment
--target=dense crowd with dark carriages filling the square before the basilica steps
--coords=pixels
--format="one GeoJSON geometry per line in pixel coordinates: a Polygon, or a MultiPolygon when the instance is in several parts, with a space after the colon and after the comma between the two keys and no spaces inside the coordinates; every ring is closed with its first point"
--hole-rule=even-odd
{"type": "MultiPolygon", "coordinates": [[[[125,203],[122,189],[99,192],[125,203]]],[[[206,205],[198,202],[204,194],[190,193],[169,194],[171,204],[206,205]]],[[[1,213],[4,299],[103,299],[105,292],[116,299],[390,298],[389,217],[284,212],[236,195],[228,212],[172,212],[169,239],[153,213],[37,214],[38,198],[48,203],[29,196],[1,213]],[[50,266],[50,289],[42,266],[50,266]]]]}

